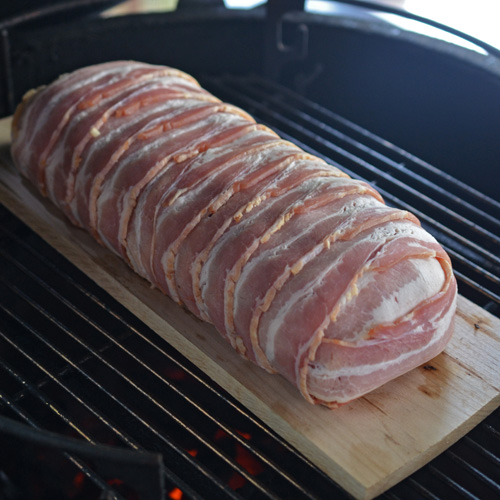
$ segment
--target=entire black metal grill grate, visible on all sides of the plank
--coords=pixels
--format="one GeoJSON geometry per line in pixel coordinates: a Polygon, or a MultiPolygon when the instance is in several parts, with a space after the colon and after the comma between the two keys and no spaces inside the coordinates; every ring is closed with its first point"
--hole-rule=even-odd
{"type": "MultiPolygon", "coordinates": [[[[389,203],[417,213],[452,255],[461,293],[498,314],[497,202],[275,84],[232,77],[203,84],[305,149],[376,184],[389,203]],[[418,192],[406,185],[409,177],[418,192]]],[[[183,500],[349,498],[3,208],[0,221],[3,417],[111,445],[118,453],[160,453],[166,498],[180,498],[181,492],[183,500]]],[[[26,456],[13,458],[11,449],[0,451],[0,487],[7,485],[11,498],[37,498],[41,486],[26,491],[35,483],[19,475],[26,456]]],[[[60,460],[70,481],[44,485],[51,497],[60,497],[61,489],[75,498],[137,498],[142,491],[144,485],[126,473],[102,470],[91,458],[63,450],[60,460]]],[[[38,460],[47,451],[30,453],[38,460]]],[[[499,410],[382,498],[498,494],[499,410]]]]}

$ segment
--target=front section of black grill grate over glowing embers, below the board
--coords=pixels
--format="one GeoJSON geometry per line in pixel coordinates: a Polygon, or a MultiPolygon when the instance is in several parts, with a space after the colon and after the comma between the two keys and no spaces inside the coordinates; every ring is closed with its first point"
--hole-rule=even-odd
{"type": "Polygon", "coordinates": [[[244,484],[249,498],[281,498],[274,489],[285,497],[320,498],[321,484],[323,493],[331,488],[196,367],[3,212],[1,255],[9,265],[0,281],[0,368],[7,416],[36,426],[43,421],[46,429],[88,441],[160,451],[167,484],[181,486],[188,498],[240,498],[228,484],[244,484]],[[301,481],[277,465],[283,455],[290,455],[301,481]],[[258,480],[254,469],[262,470],[258,480]],[[319,493],[309,479],[315,476],[319,493]]]}

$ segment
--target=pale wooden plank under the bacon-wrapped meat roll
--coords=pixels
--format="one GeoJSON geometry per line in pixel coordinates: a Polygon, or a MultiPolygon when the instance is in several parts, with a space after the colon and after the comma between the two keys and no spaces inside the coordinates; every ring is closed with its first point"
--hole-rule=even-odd
{"type": "Polygon", "coordinates": [[[309,405],[71,226],[12,167],[9,128],[0,121],[0,201],[354,497],[382,493],[499,406],[500,320],[463,297],[451,343],[427,365],[340,409],[309,405]]]}

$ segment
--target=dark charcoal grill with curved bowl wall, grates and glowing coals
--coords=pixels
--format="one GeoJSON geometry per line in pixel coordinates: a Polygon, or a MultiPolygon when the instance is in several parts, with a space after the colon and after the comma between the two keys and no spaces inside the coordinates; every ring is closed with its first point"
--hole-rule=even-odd
{"type": "MultiPolygon", "coordinates": [[[[391,37],[386,26],[351,13],[326,19],[293,12],[282,18],[284,2],[270,2],[268,16],[263,9],[230,12],[205,2],[193,11],[101,19],[94,10],[104,3],[75,2],[49,9],[50,15],[35,12],[3,24],[3,115],[28,88],[83,64],[130,57],[181,67],[283,137],[373,183],[389,204],[415,213],[449,252],[460,293],[500,316],[500,203],[494,192],[500,156],[497,140],[486,145],[490,135],[499,136],[500,76],[491,56],[441,42],[429,46],[411,34],[391,37]],[[344,49],[356,40],[354,53],[368,37],[376,51],[387,49],[392,61],[406,51],[405,57],[421,64],[427,58],[430,69],[445,64],[450,74],[436,71],[433,84],[462,75],[459,88],[453,87],[452,96],[433,112],[445,115],[439,120],[450,119],[445,110],[450,99],[474,85],[480,88],[482,95],[473,93],[471,99],[484,111],[480,144],[486,152],[478,152],[473,175],[464,162],[454,169],[449,160],[440,161],[448,152],[460,156],[456,149],[463,144],[436,136],[435,123],[413,142],[407,131],[387,129],[391,122],[393,128],[405,128],[406,122],[394,127],[401,123],[394,121],[395,113],[421,103],[407,103],[405,110],[387,106],[377,122],[368,115],[377,99],[384,109],[380,99],[387,96],[380,95],[376,79],[373,96],[360,102],[362,109],[350,109],[349,102],[352,107],[358,101],[345,81],[325,92],[332,62],[324,49],[314,50],[318,33],[329,34],[344,49]],[[193,47],[189,41],[195,35],[206,43],[193,47]],[[253,52],[246,49],[248,43],[253,52]],[[478,104],[481,98],[485,102],[478,104]],[[387,133],[382,139],[357,123],[387,133]],[[405,149],[387,138],[400,139],[405,149]],[[435,155],[434,149],[439,150],[435,155]]],[[[331,59],[338,62],[339,53],[332,51],[331,59]]],[[[342,64],[347,76],[340,80],[360,71],[342,64]]],[[[380,72],[390,79],[387,63],[380,72]]],[[[409,91],[416,92],[417,101],[426,98],[412,88],[400,89],[394,99],[404,102],[403,92],[409,91]]],[[[428,106],[415,111],[418,126],[428,106]]],[[[456,112],[464,116],[478,112],[472,107],[456,102],[456,112]]],[[[460,135],[455,123],[449,127],[460,143],[478,133],[473,126],[472,135],[460,135]]],[[[0,218],[0,497],[349,498],[7,209],[0,208],[0,218]]],[[[497,409],[382,498],[499,495],[497,409]]]]}

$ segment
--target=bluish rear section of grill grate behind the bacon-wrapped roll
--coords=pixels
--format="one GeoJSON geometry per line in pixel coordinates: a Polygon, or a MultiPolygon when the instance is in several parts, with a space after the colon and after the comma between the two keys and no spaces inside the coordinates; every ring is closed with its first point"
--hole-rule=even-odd
{"type": "Polygon", "coordinates": [[[376,186],[450,254],[460,291],[500,314],[500,203],[335,113],[260,77],[208,78],[215,95],[282,137],[376,186]]]}

